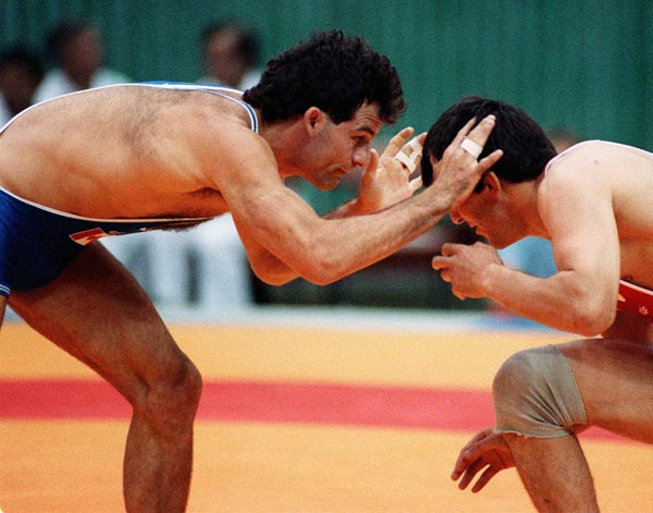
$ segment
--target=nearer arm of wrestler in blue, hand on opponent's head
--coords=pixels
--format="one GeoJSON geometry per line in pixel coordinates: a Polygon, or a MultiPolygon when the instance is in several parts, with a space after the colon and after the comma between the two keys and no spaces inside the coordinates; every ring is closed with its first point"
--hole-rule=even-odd
{"type": "MultiPolygon", "coordinates": [[[[484,142],[492,126],[480,123],[470,136],[484,142]]],[[[220,190],[254,271],[272,284],[297,277],[326,284],[393,254],[440,221],[501,157],[477,163],[459,148],[463,136],[440,161],[436,184],[382,211],[336,219],[320,218],[287,188],[270,149],[252,137],[227,163],[238,171],[223,179],[220,190]]]]}

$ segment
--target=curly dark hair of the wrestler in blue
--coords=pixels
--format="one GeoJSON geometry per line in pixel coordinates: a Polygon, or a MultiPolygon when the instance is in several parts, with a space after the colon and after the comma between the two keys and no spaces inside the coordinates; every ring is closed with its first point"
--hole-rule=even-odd
{"type": "Polygon", "coordinates": [[[310,107],[334,123],[354,118],[365,101],[378,103],[381,120],[392,124],[406,109],[402,84],[390,60],[360,37],[329,30],[268,62],[258,85],[243,99],[266,121],[287,120],[310,107]]]}

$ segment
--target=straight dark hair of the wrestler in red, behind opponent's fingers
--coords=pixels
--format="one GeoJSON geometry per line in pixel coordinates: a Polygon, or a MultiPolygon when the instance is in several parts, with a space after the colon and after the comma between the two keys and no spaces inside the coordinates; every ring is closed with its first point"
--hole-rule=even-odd
{"type": "Polygon", "coordinates": [[[502,149],[504,155],[492,167],[492,171],[507,182],[525,182],[544,171],[556,151],[542,127],[518,107],[470,96],[445,110],[429,130],[421,160],[424,185],[433,182],[430,156],[442,159],[444,150],[465,123],[476,118],[476,126],[489,114],[496,117],[496,124],[479,159],[495,149],[502,149]]]}

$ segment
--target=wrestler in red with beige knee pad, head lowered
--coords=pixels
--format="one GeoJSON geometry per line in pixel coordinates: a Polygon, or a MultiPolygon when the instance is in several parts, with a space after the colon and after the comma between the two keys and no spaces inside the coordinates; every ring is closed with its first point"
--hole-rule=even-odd
{"type": "MultiPolygon", "coordinates": [[[[447,244],[434,269],[460,298],[491,297],[517,314],[586,337],[512,356],[493,384],[495,429],[460,452],[453,478],[473,491],[516,465],[540,512],[599,511],[576,435],[588,426],[653,442],[653,155],[592,141],[556,156],[538,124],[500,101],[451,107],[424,142],[422,176],[470,117],[494,114],[484,152],[502,159],[451,210],[490,244],[447,244]],[[503,265],[494,248],[550,239],[558,271],[535,278],[503,265]]],[[[479,148],[479,155],[481,148],[479,148]]],[[[433,170],[438,175],[438,170],[433,170]]]]}

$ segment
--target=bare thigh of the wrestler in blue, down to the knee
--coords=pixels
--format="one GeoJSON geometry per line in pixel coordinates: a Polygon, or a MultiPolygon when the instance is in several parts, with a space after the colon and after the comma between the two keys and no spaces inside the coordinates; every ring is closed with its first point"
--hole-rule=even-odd
{"type": "Polygon", "coordinates": [[[85,247],[52,283],[12,292],[10,305],[127,399],[187,363],[145,291],[100,244],[85,247]]]}

